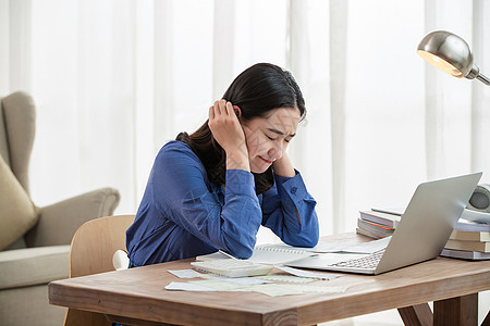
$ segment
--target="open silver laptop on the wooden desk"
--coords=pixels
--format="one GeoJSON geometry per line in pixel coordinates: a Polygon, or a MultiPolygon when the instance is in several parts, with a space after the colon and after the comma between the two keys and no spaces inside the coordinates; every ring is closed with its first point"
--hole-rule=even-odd
{"type": "Polygon", "coordinates": [[[474,173],[420,184],[385,249],[332,264],[320,255],[289,266],[377,275],[437,258],[481,177],[474,173]]]}

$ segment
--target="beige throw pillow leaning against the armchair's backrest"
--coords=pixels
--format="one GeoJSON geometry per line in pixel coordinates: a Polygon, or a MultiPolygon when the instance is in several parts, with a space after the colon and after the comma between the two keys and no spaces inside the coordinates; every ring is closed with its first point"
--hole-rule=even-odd
{"type": "Polygon", "coordinates": [[[0,250],[9,247],[38,220],[36,206],[0,156],[0,250]]]}

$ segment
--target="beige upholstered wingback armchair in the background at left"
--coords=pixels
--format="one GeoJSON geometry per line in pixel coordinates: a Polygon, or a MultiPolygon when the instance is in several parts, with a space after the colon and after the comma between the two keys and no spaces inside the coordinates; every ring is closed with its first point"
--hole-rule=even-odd
{"type": "Polygon", "coordinates": [[[69,277],[70,242],[76,229],[89,220],[112,215],[120,200],[118,190],[103,188],[49,206],[34,206],[28,195],[34,131],[32,98],[24,92],[1,98],[0,163],[10,167],[3,168],[3,175],[0,170],[0,228],[3,228],[0,244],[8,243],[0,249],[0,324],[3,326],[62,325],[65,309],[49,304],[47,285],[69,277]],[[28,210],[35,215],[32,222],[21,225],[26,229],[16,240],[7,239],[12,235],[8,229],[9,218],[15,222],[17,217],[12,215],[17,212],[19,198],[9,199],[14,190],[22,191],[30,204],[28,210]]]}

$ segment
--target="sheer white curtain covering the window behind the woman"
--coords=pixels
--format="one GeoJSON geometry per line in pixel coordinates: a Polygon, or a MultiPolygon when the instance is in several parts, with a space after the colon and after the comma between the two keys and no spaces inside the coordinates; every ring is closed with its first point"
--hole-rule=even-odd
{"type": "Polygon", "coordinates": [[[490,74],[489,16],[486,0],[0,0],[0,96],[37,103],[37,204],[111,186],[135,213],[160,147],[244,68],[275,63],[307,102],[290,151],[321,234],[353,231],[358,210],[404,205],[420,181],[490,183],[490,88],[416,54],[446,29],[490,74]]]}

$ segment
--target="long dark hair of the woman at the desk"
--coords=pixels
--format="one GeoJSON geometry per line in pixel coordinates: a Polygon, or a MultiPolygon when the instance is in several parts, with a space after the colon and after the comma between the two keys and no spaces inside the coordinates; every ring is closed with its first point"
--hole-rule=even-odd
{"type": "MultiPolygon", "coordinates": [[[[237,105],[245,121],[266,117],[269,111],[279,108],[299,110],[302,120],[306,114],[305,100],[293,75],[270,63],[257,63],[241,73],[224,92],[223,99],[237,105]]],[[[208,121],[192,135],[180,133],[176,140],[192,148],[206,167],[210,181],[224,185],[225,152],[215,140],[208,121]]],[[[267,191],[273,185],[272,168],[254,173],[254,178],[256,192],[267,191]]]]}

